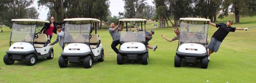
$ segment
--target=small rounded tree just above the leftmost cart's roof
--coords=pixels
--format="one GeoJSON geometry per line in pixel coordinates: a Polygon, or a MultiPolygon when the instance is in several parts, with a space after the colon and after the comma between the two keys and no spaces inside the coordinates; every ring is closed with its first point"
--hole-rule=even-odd
{"type": "Polygon", "coordinates": [[[27,18],[38,19],[39,13],[35,7],[28,8],[27,12],[28,12],[28,14],[26,16],[27,18]]]}

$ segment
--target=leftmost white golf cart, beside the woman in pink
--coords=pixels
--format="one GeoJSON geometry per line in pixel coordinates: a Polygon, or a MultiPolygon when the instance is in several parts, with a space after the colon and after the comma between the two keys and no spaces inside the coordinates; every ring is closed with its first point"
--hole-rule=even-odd
{"type": "Polygon", "coordinates": [[[38,59],[53,58],[53,48],[48,46],[46,34],[35,34],[36,27],[49,21],[38,19],[12,19],[10,48],[6,51],[3,61],[6,65],[17,61],[26,61],[26,65],[35,65],[38,59]]]}

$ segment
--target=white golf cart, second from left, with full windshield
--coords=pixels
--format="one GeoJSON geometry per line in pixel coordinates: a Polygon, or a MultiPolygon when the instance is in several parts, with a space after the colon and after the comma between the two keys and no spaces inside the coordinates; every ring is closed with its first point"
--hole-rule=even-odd
{"type": "Polygon", "coordinates": [[[70,63],[83,63],[84,68],[91,68],[92,61],[104,60],[104,50],[100,35],[97,35],[97,23],[94,18],[71,18],[67,21],[64,29],[64,43],[68,43],[61,52],[58,64],[65,68],[70,63]],[[95,24],[95,25],[93,25],[95,24]],[[93,27],[95,34],[91,34],[93,27]]]}

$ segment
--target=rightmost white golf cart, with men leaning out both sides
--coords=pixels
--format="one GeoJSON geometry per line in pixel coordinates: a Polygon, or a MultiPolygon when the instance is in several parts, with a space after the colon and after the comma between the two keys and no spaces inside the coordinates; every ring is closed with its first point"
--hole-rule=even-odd
{"type": "Polygon", "coordinates": [[[180,18],[180,40],[175,55],[174,66],[181,62],[201,63],[202,69],[208,67],[208,24],[209,19],[180,18]]]}

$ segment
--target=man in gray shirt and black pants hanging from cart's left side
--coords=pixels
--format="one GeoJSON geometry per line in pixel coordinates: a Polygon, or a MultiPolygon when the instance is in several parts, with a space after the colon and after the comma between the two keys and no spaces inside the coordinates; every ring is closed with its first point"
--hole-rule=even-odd
{"type": "Polygon", "coordinates": [[[116,52],[116,54],[118,54],[118,49],[116,48],[116,46],[118,44],[120,44],[120,33],[119,31],[122,31],[122,23],[119,23],[116,27],[115,24],[113,22],[110,23],[110,28],[108,29],[109,34],[112,37],[112,44],[111,44],[111,48],[114,50],[114,52],[116,52]],[[121,29],[119,28],[119,26],[121,25],[121,29]]]}

